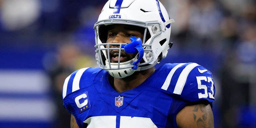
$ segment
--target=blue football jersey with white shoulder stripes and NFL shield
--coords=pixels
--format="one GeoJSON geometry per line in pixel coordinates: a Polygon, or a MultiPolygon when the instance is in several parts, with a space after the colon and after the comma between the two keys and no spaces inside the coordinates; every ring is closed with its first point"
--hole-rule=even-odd
{"type": "Polygon", "coordinates": [[[164,64],[140,86],[122,93],[100,68],[82,68],[63,86],[64,107],[80,128],[176,128],[176,114],[192,103],[214,101],[214,81],[196,63],[164,64]]]}

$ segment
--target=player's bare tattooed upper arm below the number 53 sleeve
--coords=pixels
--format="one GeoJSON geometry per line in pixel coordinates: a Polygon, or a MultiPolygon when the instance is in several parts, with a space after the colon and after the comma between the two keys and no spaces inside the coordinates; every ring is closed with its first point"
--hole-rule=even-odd
{"type": "Polygon", "coordinates": [[[186,106],[176,116],[179,128],[214,128],[210,104],[186,106]]]}

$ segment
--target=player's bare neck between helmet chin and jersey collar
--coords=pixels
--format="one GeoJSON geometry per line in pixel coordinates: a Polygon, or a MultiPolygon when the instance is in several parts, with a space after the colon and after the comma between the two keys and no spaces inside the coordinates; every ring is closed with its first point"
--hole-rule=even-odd
{"type": "Polygon", "coordinates": [[[124,92],[127,90],[131,90],[133,88],[136,88],[140,84],[142,84],[148,77],[150,77],[155,72],[155,67],[152,67],[148,70],[143,70],[139,72],[134,72],[131,76],[118,79],[114,78],[112,79],[112,87],[117,92],[124,92]]]}

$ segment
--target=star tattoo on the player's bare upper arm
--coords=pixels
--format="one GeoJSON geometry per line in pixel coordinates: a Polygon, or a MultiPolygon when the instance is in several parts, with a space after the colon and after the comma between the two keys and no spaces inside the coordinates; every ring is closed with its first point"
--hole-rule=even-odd
{"type": "Polygon", "coordinates": [[[213,117],[209,115],[204,104],[195,105],[193,109],[193,117],[198,128],[208,128],[213,123],[213,117]]]}

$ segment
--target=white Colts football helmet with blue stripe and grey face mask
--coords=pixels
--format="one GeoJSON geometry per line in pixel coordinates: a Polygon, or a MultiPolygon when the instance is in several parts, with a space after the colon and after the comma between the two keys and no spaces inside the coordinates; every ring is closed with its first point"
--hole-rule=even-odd
{"type": "Polygon", "coordinates": [[[158,0],[109,0],[102,9],[98,21],[94,25],[96,41],[96,60],[100,68],[107,70],[115,78],[130,76],[135,71],[152,68],[155,64],[165,58],[168,49],[172,46],[169,43],[171,27],[174,22],[161,2],[158,0]],[[144,54],[142,60],[134,68],[134,62],[138,56],[127,62],[110,62],[110,50],[125,50],[122,45],[126,43],[106,43],[106,27],[111,24],[127,24],[138,26],[144,30],[142,48],[144,54]],[[146,38],[147,37],[147,38],[146,38]],[[109,48],[109,45],[117,45],[109,48]]]}

